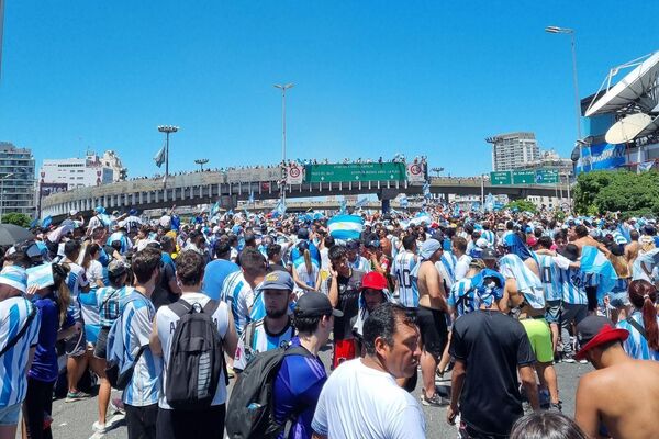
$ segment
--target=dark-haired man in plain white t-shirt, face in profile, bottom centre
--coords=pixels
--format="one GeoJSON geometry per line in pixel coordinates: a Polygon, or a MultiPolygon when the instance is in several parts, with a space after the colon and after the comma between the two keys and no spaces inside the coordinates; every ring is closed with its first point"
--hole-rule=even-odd
{"type": "Polygon", "coordinates": [[[384,303],[364,323],[362,341],[366,357],[342,363],[323,387],[314,438],[425,438],[421,406],[395,382],[418,365],[414,318],[401,305],[384,303]]]}

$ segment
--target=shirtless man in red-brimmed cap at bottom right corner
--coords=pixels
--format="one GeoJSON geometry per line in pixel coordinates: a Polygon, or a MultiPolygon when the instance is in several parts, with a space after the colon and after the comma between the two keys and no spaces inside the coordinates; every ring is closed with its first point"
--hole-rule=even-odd
{"type": "Polygon", "coordinates": [[[585,358],[596,369],[579,381],[577,424],[590,438],[656,438],[659,362],[627,356],[622,341],[629,333],[605,317],[585,317],[577,333],[582,346],[577,359],[585,358]]]}

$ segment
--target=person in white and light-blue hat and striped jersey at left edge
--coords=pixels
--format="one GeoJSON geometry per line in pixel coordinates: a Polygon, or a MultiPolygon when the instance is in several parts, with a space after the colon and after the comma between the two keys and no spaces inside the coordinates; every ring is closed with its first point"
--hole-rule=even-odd
{"type": "Polygon", "coordinates": [[[27,391],[27,371],[38,344],[41,318],[23,294],[27,274],[18,266],[0,272],[0,438],[14,438],[21,404],[27,391]]]}

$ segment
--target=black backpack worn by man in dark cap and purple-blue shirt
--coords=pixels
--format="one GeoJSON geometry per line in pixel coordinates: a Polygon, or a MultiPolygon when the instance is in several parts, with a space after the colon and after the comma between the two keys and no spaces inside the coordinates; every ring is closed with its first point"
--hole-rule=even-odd
{"type": "Polygon", "coordinates": [[[226,434],[231,439],[276,438],[284,428],[272,417],[272,387],[288,356],[314,358],[301,346],[259,352],[241,373],[226,408],[226,434]]]}

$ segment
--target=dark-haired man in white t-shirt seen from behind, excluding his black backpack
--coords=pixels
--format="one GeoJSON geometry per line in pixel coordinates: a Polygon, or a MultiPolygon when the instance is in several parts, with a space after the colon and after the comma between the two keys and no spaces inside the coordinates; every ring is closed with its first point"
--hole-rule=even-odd
{"type": "MultiPolygon", "coordinates": [[[[203,281],[204,258],[196,251],[187,250],[176,258],[176,277],[181,285],[181,299],[188,305],[203,308],[211,299],[201,292],[203,281]]],[[[176,410],[167,404],[167,368],[171,349],[171,338],[180,317],[171,306],[161,306],[156,313],[150,348],[154,354],[160,353],[164,360],[163,387],[158,399],[158,420],[156,436],[158,439],[180,438],[217,438],[224,434],[226,415],[226,382],[224,372],[220,374],[217,389],[211,406],[202,410],[176,410]]],[[[236,351],[236,329],[232,313],[225,302],[215,308],[213,320],[217,323],[217,331],[223,340],[223,349],[232,360],[236,351]]]]}

